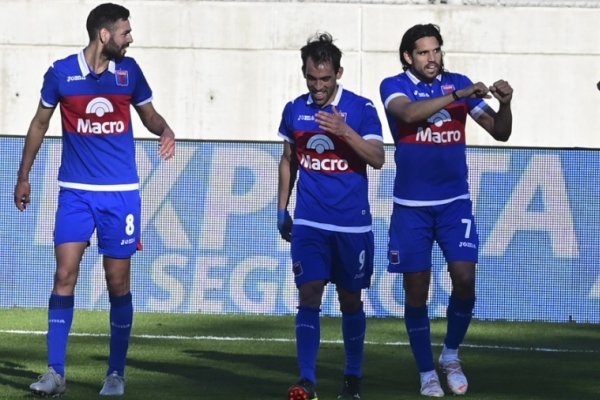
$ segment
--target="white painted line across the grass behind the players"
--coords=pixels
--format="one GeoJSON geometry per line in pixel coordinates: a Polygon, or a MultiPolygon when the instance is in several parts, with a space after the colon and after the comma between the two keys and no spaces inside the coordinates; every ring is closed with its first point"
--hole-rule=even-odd
{"type": "MultiPolygon", "coordinates": [[[[12,334],[12,335],[32,335],[39,336],[45,335],[46,331],[25,331],[25,330],[11,330],[11,329],[0,329],[0,334],[12,334]]],[[[109,337],[107,333],[85,333],[85,332],[71,332],[69,336],[78,337],[109,337]]],[[[279,342],[279,343],[295,343],[296,339],[290,338],[251,338],[251,337],[236,337],[236,336],[180,336],[180,335],[131,335],[132,338],[138,339],[151,339],[151,340],[207,340],[207,341],[222,341],[222,342],[279,342]]],[[[321,343],[327,344],[343,344],[343,340],[321,340],[321,343]]],[[[365,341],[365,344],[375,346],[409,346],[408,342],[372,342],[365,341]]],[[[441,347],[441,345],[435,345],[441,347]]],[[[500,346],[500,345],[487,345],[487,344],[462,344],[463,348],[472,349],[486,349],[486,350],[510,350],[530,353],[583,353],[583,354],[595,354],[600,353],[598,350],[585,350],[585,349],[555,349],[548,347],[518,347],[518,346],[500,346]]]]}

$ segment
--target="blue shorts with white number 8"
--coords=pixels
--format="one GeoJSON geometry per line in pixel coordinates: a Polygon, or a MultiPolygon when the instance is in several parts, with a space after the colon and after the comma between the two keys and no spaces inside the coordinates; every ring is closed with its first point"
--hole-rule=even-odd
{"type": "Polygon", "coordinates": [[[54,222],[54,244],[89,242],[94,230],[98,252],[129,258],[140,242],[139,190],[93,192],[61,188],[54,222]]]}

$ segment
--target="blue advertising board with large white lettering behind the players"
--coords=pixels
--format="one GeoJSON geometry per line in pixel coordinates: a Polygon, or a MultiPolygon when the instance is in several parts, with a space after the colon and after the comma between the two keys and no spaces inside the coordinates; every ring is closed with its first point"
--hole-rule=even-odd
{"type": "MultiPolygon", "coordinates": [[[[0,138],[4,308],[46,307],[55,266],[60,139],[44,141],[30,175],[32,203],[20,213],[12,197],[23,142],[0,138]]],[[[156,141],[137,145],[144,250],[133,258],[135,309],[294,313],[289,244],[276,228],[281,144],[181,141],[168,162],[158,158],[156,141]]],[[[600,152],[470,147],[467,157],[481,242],[475,318],[600,322],[600,152]]],[[[402,277],[386,272],[392,146],[386,147],[384,168],[369,174],[376,258],[365,309],[373,317],[402,317],[402,277]]],[[[450,289],[436,249],[432,317],[445,316],[450,289]]],[[[75,297],[77,307],[108,309],[95,238],[75,297]]],[[[324,315],[340,315],[333,288],[323,303],[324,315]]]]}

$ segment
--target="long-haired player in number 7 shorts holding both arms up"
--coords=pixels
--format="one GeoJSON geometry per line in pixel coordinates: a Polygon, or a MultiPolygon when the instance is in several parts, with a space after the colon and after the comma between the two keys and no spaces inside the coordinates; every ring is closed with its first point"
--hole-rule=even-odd
{"type": "Polygon", "coordinates": [[[390,221],[388,271],[403,273],[405,325],[421,374],[421,394],[442,397],[436,373],[427,298],[433,242],[442,249],[452,280],[448,326],[439,358],[450,390],[467,391],[458,358],[475,304],[479,240],[467,182],[467,114],[496,140],[512,130],[513,89],[504,80],[491,86],[444,69],[439,27],[415,25],[402,37],[403,73],[380,86],[396,145],[394,209],[390,221]],[[483,99],[493,95],[495,112],[483,99]]]}

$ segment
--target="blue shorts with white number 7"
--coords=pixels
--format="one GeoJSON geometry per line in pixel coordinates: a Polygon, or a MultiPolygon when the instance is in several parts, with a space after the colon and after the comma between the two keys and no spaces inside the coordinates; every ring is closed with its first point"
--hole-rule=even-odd
{"type": "Polygon", "coordinates": [[[389,272],[420,272],[431,268],[433,242],[446,262],[477,263],[479,236],[471,200],[427,207],[394,204],[388,244],[389,272]]]}

